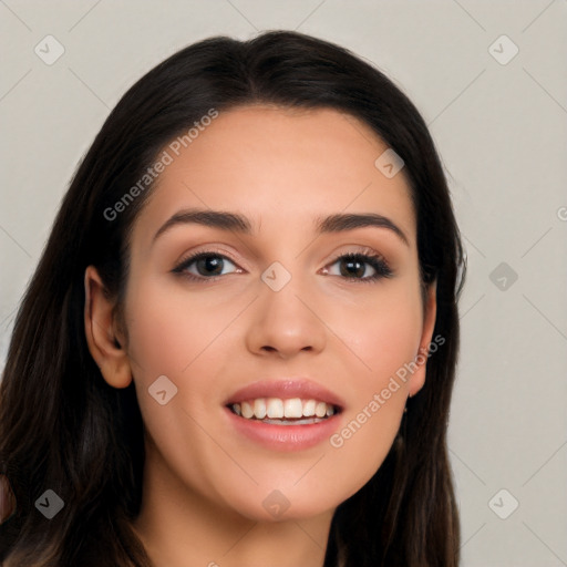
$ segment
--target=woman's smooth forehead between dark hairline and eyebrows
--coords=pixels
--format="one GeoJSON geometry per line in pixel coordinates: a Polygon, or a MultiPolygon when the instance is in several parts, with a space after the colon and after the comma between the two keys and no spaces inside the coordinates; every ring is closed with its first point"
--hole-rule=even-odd
{"type": "Polygon", "coordinates": [[[221,112],[206,123],[164,146],[167,165],[136,220],[134,239],[150,244],[177,210],[199,207],[239,212],[255,231],[307,231],[316,218],[373,212],[393,217],[414,240],[403,169],[389,178],[377,167],[388,145],[355,117],[261,105],[221,112]]]}

